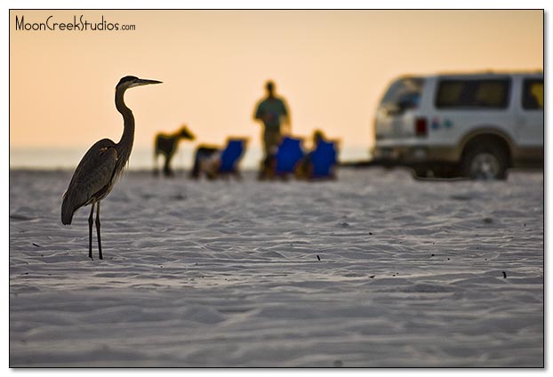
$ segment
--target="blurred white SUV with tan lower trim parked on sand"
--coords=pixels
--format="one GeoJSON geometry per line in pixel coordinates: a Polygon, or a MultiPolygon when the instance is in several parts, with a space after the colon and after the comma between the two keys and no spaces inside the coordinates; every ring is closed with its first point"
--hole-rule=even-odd
{"type": "Polygon", "coordinates": [[[377,109],[373,160],[417,176],[543,166],[543,73],[405,76],[377,109]]]}

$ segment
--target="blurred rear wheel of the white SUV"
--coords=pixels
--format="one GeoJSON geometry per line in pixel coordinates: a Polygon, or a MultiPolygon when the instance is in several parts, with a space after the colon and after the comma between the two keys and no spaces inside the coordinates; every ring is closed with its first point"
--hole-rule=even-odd
{"type": "Polygon", "coordinates": [[[505,180],[509,158],[504,148],[496,143],[473,144],[461,160],[461,172],[473,180],[505,180]]]}

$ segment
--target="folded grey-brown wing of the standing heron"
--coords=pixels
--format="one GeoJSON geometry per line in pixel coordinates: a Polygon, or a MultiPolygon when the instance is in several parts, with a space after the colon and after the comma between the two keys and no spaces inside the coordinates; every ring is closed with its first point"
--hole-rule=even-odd
{"type": "MultiPolygon", "coordinates": [[[[77,208],[87,205],[102,190],[108,189],[115,173],[117,152],[112,140],[95,143],[77,165],[61,205],[62,222],[70,218],[77,208]],[[71,213],[69,215],[68,213],[71,213]]],[[[64,222],[66,223],[66,222],[64,222]]]]}

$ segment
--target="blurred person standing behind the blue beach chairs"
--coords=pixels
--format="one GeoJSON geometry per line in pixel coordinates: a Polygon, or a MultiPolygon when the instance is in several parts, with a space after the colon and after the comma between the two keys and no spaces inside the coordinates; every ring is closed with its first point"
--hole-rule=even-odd
{"type": "Polygon", "coordinates": [[[285,100],[276,97],[275,83],[268,81],[265,84],[267,98],[261,100],[255,109],[255,120],[263,122],[263,148],[265,156],[261,164],[260,178],[270,173],[270,167],[276,155],[276,149],[282,137],[282,125],[287,125],[290,132],[290,115],[285,100]]]}

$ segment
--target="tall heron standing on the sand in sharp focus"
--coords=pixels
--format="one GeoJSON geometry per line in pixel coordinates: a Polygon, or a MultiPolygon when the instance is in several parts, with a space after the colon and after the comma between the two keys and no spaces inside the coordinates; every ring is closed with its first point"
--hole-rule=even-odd
{"type": "Polygon", "coordinates": [[[91,205],[88,218],[88,256],[92,259],[92,215],[96,205],[96,232],[98,233],[98,253],[100,259],[100,200],[107,197],[117,177],[123,172],[124,165],[129,160],[134,140],[134,116],[130,108],[124,104],[124,92],[134,86],[160,84],[161,81],[146,80],[135,76],[124,76],[116,85],[116,108],[124,121],[124,131],[121,140],[102,139],[97,141],[84,155],[76,166],[68,189],[63,194],[61,204],[61,223],[68,225],[73,214],[84,205],[91,205]]]}

